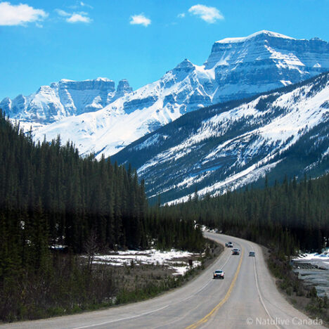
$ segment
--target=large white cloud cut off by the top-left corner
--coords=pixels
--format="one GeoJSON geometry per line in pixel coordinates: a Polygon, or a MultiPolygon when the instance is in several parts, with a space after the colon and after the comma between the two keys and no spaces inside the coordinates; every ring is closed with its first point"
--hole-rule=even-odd
{"type": "Polygon", "coordinates": [[[48,13],[35,9],[27,4],[11,5],[10,2],[0,3],[0,25],[24,25],[27,22],[44,20],[48,13]]]}

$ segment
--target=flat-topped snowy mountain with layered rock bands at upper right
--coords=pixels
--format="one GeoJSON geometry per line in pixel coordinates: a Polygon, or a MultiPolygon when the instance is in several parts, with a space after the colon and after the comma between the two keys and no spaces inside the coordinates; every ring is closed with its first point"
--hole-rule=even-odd
{"type": "Polygon", "coordinates": [[[214,70],[213,102],[243,98],[314,77],[329,67],[329,44],[261,31],[245,38],[217,41],[205,62],[214,70]]]}

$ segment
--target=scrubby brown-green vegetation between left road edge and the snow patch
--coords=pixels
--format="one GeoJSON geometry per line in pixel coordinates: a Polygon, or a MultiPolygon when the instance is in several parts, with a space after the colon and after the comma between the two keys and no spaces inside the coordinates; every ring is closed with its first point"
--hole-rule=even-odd
{"type": "Polygon", "coordinates": [[[174,271],[160,264],[90,266],[86,257],[53,252],[53,270],[43,280],[38,276],[17,280],[17,288],[11,289],[14,295],[1,296],[3,310],[4,304],[7,307],[7,317],[2,320],[61,316],[155,297],[191,280],[220,254],[222,247],[209,241],[207,250],[192,257],[200,266],[191,267],[183,276],[174,275],[174,271]]]}

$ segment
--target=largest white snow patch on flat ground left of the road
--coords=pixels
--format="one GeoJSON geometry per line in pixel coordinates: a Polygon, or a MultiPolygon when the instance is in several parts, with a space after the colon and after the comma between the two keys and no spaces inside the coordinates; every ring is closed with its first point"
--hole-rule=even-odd
{"type": "MultiPolygon", "coordinates": [[[[191,269],[191,266],[188,265],[188,262],[183,262],[181,259],[195,256],[198,256],[198,254],[174,249],[170,251],[160,251],[155,249],[142,251],[125,250],[113,252],[112,254],[96,254],[93,262],[96,264],[108,264],[111,266],[129,266],[131,265],[131,262],[134,262],[135,265],[162,265],[174,270],[174,275],[183,275],[188,269],[191,269]]],[[[200,265],[201,262],[193,260],[193,267],[198,267],[200,265]]]]}

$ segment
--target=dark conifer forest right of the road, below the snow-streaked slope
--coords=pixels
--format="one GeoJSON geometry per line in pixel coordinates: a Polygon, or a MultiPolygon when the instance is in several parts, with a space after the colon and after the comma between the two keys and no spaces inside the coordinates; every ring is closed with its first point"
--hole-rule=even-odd
{"type": "Polygon", "coordinates": [[[296,250],[321,250],[329,237],[329,174],[297,182],[285,176],[282,183],[264,189],[245,188],[211,198],[167,207],[182,219],[217,228],[222,233],[253,240],[290,255],[296,250]],[[171,209],[172,208],[172,209],[171,209]]]}

